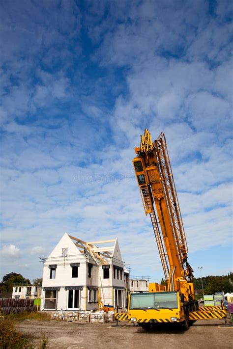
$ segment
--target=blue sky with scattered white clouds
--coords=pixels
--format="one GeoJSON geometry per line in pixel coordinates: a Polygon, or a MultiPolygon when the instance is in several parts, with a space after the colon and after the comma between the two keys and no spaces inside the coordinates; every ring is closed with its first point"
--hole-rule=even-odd
{"type": "Polygon", "coordinates": [[[232,269],[232,2],[1,1],[1,275],[42,275],[68,232],[117,237],[134,275],[162,268],[132,171],[167,138],[199,276],[232,269]]]}

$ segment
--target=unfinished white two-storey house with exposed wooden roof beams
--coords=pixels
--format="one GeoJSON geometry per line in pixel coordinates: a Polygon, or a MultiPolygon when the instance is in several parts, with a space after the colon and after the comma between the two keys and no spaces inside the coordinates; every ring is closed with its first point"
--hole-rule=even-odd
{"type": "Polygon", "coordinates": [[[41,310],[124,307],[128,290],[117,239],[84,242],[65,233],[44,263],[41,310]]]}

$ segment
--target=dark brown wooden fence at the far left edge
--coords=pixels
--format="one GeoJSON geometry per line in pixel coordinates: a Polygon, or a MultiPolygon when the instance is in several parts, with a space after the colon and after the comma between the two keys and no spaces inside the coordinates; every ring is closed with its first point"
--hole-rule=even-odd
{"type": "Polygon", "coordinates": [[[17,314],[36,311],[34,299],[25,298],[0,298],[0,310],[2,315],[17,314]]]}

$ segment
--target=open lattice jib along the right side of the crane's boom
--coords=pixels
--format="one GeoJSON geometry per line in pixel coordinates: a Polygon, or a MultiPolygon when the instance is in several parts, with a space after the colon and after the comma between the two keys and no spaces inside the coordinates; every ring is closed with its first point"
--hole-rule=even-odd
{"type": "Polygon", "coordinates": [[[191,279],[193,270],[187,262],[188,247],[165,135],[161,133],[157,140],[154,141],[153,145],[153,149],[156,152],[156,157],[158,159],[165,199],[169,209],[179,260],[184,268],[185,276],[191,279]]]}

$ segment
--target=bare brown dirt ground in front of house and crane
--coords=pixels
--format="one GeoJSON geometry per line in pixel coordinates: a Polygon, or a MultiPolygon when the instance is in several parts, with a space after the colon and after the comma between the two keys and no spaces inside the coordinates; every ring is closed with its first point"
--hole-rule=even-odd
{"type": "MultiPolygon", "coordinates": [[[[122,324],[122,322],[121,322],[122,324]]],[[[58,322],[25,320],[17,327],[39,347],[42,336],[49,340],[53,349],[232,349],[233,327],[221,328],[223,320],[195,322],[188,331],[174,327],[163,327],[155,331],[145,331],[141,327],[124,323],[124,327],[110,327],[112,324],[58,322]]]]}

